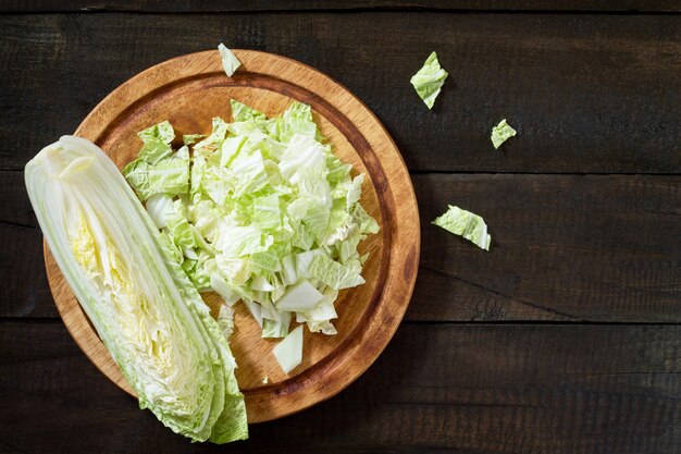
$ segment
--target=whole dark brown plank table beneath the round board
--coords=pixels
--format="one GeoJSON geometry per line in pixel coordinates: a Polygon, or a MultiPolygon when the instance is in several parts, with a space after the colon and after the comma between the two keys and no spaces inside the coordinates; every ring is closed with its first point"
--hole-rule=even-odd
{"type": "Polygon", "coordinates": [[[681,4],[586,0],[0,3],[0,452],[681,452],[681,4]],[[336,397],[190,444],[101,376],[46,281],[22,170],[172,57],[265,50],[357,94],[422,217],[419,280],[336,397]],[[437,51],[433,111],[409,84],[437,51]],[[502,151],[490,128],[519,135],[502,151]],[[490,253],[430,224],[482,214],[490,253]]]}

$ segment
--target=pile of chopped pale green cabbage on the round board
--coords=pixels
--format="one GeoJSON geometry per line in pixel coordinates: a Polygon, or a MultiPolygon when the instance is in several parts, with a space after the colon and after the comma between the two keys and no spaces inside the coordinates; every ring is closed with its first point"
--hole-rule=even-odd
{"type": "Polygon", "coordinates": [[[338,291],[364,282],[358,245],[379,231],[359,203],[364,175],[334,156],[309,106],[268,119],[231,102],[232,123],[214,118],[177,150],[169,122],[141,131],[123,174],[197,290],[244,302],[263,338],[294,319],[335,334],[338,291]]]}

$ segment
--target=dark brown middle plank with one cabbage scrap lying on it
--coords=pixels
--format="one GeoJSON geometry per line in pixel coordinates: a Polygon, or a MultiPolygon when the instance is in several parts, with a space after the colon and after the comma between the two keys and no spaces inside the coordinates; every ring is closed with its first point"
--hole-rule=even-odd
{"type": "MultiPolygon", "coordinates": [[[[57,317],[39,231],[3,222],[30,210],[21,173],[4,174],[0,236],[10,238],[11,254],[0,256],[0,270],[12,279],[0,286],[0,316],[57,317]]],[[[681,176],[412,181],[422,249],[407,320],[681,321],[681,176]],[[447,204],[485,218],[488,253],[430,224],[447,204]]]]}

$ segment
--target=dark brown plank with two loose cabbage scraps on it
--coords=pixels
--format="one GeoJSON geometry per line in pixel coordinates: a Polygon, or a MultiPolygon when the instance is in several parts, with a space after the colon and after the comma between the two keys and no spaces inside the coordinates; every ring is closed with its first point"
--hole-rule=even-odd
{"type": "Polygon", "coordinates": [[[679,173],[680,25],[679,15],[2,15],[0,169],[22,169],[134,74],[224,40],[346,85],[411,171],[679,173]],[[409,78],[432,50],[450,75],[429,111],[409,78]],[[495,151],[490,130],[503,118],[519,135],[495,151]]]}

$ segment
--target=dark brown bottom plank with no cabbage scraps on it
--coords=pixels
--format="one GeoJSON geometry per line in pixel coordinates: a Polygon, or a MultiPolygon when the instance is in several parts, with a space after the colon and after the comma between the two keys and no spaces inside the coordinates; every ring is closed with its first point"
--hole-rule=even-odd
{"type": "MultiPolygon", "coordinates": [[[[215,451],[139,410],[60,323],[1,322],[0,358],[4,453],[215,451]]],[[[228,450],[677,453],[679,395],[679,326],[407,324],[338,396],[228,450]]]]}

